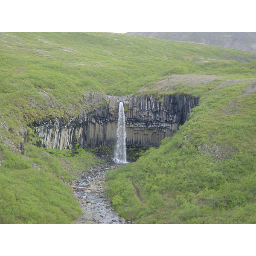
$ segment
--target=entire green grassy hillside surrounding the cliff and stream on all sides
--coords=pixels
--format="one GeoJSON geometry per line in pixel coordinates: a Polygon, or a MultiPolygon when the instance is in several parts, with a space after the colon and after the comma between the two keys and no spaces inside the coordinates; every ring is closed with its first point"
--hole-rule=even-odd
{"type": "Polygon", "coordinates": [[[17,154],[21,126],[76,114],[88,90],[127,95],[179,74],[225,78],[193,86],[184,81],[168,90],[200,96],[201,104],[159,149],[112,172],[113,205],[140,223],[225,222],[225,214],[241,212],[248,216],[241,222],[253,221],[255,59],[254,52],[131,35],[0,33],[0,223],[72,222],[80,210],[62,180],[96,164],[83,150],[73,157],[48,155],[31,145],[30,128],[25,154],[17,154]],[[72,162],[69,171],[61,157],[72,162]],[[238,198],[226,199],[229,191],[238,191],[238,198]],[[182,211],[194,213],[182,217],[182,211]]]}

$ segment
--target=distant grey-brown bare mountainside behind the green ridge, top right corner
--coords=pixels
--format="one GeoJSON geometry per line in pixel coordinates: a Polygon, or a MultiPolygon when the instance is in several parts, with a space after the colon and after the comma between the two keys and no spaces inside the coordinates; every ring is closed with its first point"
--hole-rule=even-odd
{"type": "Polygon", "coordinates": [[[256,32],[128,32],[126,34],[256,52],[256,32]]]}

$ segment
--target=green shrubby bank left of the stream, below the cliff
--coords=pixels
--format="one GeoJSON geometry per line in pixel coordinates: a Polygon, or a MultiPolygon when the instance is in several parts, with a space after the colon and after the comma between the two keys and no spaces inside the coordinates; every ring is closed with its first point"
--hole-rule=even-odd
{"type": "Polygon", "coordinates": [[[29,143],[23,156],[3,147],[0,153],[1,224],[69,224],[81,215],[67,184],[96,165],[93,154],[46,151],[29,143]]]}

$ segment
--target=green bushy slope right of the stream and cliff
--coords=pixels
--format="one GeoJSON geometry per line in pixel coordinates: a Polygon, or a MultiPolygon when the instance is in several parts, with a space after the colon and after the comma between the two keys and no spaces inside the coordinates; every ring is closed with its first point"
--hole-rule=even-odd
{"type": "Polygon", "coordinates": [[[249,84],[211,84],[174,137],[111,171],[118,212],[135,223],[256,223],[256,80],[249,84]]]}

